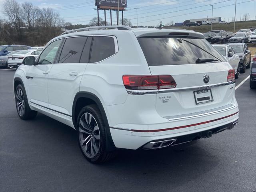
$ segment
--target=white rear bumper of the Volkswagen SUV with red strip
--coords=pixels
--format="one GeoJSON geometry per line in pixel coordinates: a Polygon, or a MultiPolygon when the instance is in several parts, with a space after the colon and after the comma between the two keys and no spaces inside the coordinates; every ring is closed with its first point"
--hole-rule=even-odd
{"type": "Polygon", "coordinates": [[[127,129],[124,127],[110,127],[110,132],[117,148],[138,149],[154,141],[176,139],[171,144],[174,145],[201,137],[209,137],[211,134],[233,128],[233,124],[238,121],[238,118],[237,106],[232,110],[202,117],[146,125],[148,129],[144,130],[137,129],[142,125],[135,124],[130,124],[127,129]],[[136,127],[136,129],[133,129],[133,127],[136,127]]]}

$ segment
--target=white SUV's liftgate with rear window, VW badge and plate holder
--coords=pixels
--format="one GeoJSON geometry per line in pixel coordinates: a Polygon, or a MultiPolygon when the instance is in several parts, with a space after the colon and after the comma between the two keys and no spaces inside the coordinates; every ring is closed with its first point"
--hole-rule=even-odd
{"type": "Polygon", "coordinates": [[[176,88],[159,90],[156,94],[156,110],[160,116],[192,114],[232,102],[233,90],[228,86],[200,89],[227,82],[230,70],[228,62],[205,39],[144,36],[138,41],[151,74],[171,75],[176,82],[176,88]],[[198,59],[216,61],[198,62],[198,59]]]}

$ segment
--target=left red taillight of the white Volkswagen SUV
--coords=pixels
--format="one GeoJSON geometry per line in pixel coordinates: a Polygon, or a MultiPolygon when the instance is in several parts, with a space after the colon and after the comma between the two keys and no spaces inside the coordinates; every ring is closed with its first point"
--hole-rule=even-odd
{"type": "Polygon", "coordinates": [[[126,89],[152,90],[175,88],[176,82],[170,75],[124,75],[126,89]]]}

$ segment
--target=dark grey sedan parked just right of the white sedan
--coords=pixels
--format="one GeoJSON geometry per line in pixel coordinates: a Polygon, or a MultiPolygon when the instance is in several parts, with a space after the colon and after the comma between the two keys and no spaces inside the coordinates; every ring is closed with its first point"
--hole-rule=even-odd
{"type": "Polygon", "coordinates": [[[251,52],[245,43],[228,44],[240,57],[240,73],[244,73],[246,68],[250,68],[251,64],[251,52]]]}

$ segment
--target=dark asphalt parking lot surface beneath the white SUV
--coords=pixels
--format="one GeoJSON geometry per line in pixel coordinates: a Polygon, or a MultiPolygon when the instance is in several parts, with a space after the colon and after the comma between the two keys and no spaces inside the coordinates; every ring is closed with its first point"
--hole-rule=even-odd
{"type": "MultiPolygon", "coordinates": [[[[121,150],[105,164],[82,156],[76,132],[47,116],[17,115],[12,80],[0,70],[0,191],[256,190],[256,90],[236,89],[238,125],[191,146],[121,150]]],[[[240,84],[249,74],[241,74],[240,84]]]]}

